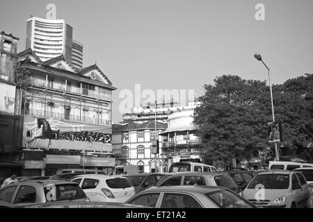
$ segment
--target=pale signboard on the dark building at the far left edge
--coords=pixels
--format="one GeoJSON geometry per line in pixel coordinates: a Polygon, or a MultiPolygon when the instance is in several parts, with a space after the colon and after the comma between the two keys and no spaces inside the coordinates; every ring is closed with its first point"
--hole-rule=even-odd
{"type": "Polygon", "coordinates": [[[0,112],[14,114],[15,86],[0,83],[0,112]]]}

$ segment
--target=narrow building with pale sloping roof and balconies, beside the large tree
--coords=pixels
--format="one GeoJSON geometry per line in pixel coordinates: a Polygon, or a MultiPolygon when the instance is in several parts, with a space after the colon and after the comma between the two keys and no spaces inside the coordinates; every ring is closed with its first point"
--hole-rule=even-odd
{"type": "Polygon", "coordinates": [[[168,128],[160,133],[163,158],[168,163],[182,159],[199,159],[202,161],[204,150],[201,139],[196,135],[197,128],[193,124],[194,110],[182,110],[168,116],[168,128]]]}

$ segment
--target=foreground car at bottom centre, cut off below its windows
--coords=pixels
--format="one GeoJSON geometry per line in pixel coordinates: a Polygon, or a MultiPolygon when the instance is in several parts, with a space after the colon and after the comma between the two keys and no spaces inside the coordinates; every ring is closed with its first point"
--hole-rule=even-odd
{"type": "Polygon", "coordinates": [[[248,200],[225,187],[151,187],[126,201],[156,208],[252,208],[248,200]]]}

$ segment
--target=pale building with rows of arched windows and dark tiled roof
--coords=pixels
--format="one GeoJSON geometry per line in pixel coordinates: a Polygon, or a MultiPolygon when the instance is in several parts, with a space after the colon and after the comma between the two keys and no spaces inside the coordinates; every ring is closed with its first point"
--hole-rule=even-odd
{"type": "Polygon", "coordinates": [[[157,121],[157,132],[155,121],[143,123],[120,123],[113,124],[112,142],[113,153],[117,158],[117,165],[132,165],[144,173],[163,172],[165,160],[161,153],[161,136],[159,135],[167,128],[167,123],[157,121]],[[159,153],[157,162],[152,152],[152,141],[159,138],[159,153]]]}

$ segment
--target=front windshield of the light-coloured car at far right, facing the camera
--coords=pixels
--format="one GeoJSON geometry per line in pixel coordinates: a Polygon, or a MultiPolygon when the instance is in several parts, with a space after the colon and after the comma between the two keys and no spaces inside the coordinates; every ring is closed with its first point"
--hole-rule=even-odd
{"type": "Polygon", "coordinates": [[[259,174],[250,182],[248,189],[255,189],[257,185],[264,185],[264,189],[288,189],[289,175],[288,174],[259,174]]]}

